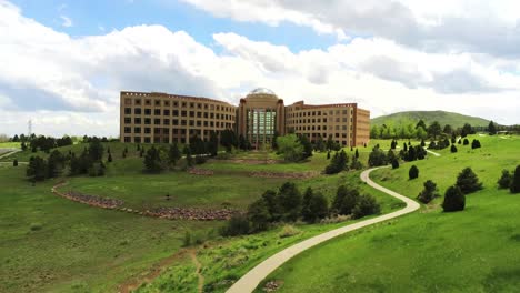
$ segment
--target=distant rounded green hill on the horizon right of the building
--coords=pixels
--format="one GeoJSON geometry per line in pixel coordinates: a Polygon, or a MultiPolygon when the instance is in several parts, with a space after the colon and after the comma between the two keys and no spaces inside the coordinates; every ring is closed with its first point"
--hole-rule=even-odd
{"type": "Polygon", "coordinates": [[[489,120],[463,115],[453,112],[446,111],[407,111],[398,112],[389,115],[382,115],[371,119],[372,125],[393,124],[398,125],[401,123],[417,123],[419,120],[423,120],[428,125],[433,121],[438,121],[441,125],[450,124],[453,128],[461,128],[464,123],[470,123],[472,127],[487,127],[489,120]]]}

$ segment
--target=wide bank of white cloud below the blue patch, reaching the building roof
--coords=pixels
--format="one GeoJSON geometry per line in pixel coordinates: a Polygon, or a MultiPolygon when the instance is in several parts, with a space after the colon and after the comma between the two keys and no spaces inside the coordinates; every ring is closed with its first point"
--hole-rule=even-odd
{"type": "Polygon", "coordinates": [[[487,54],[426,52],[386,38],[353,38],[294,53],[284,46],[216,33],[216,46],[223,49],[216,53],[162,26],[71,38],[0,0],[0,132],[26,132],[32,119],[40,133],[117,135],[121,90],[237,104],[256,87],[271,88],[286,104],[359,102],[372,117],[442,109],[520,123],[514,111],[520,109],[520,77],[503,70],[518,70],[518,63],[487,54]]]}

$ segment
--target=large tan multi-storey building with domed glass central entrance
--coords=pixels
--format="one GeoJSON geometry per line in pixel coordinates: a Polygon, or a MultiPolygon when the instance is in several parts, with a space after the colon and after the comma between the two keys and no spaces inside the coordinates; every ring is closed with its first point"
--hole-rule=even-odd
{"type": "Polygon", "coordinates": [[[370,112],[357,103],[284,105],[268,89],[256,89],[238,107],[219,100],[159,92],[121,92],[120,138],[133,143],[188,143],[211,131],[233,130],[257,149],[274,133],[307,135],[311,142],[332,137],[343,146],[369,142],[370,112]]]}

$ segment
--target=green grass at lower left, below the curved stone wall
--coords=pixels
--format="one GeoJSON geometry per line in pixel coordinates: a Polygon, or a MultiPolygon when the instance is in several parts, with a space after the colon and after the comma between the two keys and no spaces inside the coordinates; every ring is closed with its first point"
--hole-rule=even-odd
{"type": "Polygon", "coordinates": [[[184,231],[217,224],[89,208],[23,175],[24,168],[0,166],[0,292],[114,291],[178,250],[184,231]]]}

